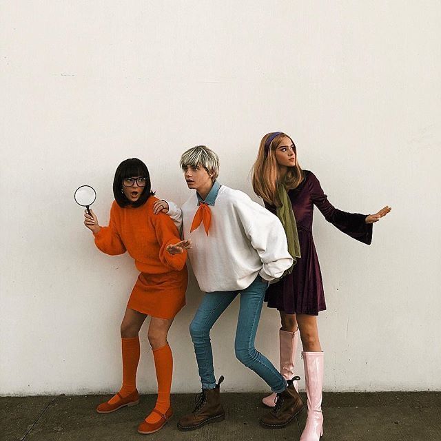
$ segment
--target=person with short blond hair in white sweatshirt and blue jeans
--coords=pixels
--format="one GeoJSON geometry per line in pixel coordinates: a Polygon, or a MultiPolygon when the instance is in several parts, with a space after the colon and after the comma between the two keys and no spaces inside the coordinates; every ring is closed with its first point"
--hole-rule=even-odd
{"type": "MultiPolygon", "coordinates": [[[[198,429],[224,420],[220,403],[220,376],[216,384],[209,331],[229,304],[240,294],[234,348],[236,357],[263,378],[280,396],[278,406],[260,418],[263,427],[287,425],[302,409],[291,380],[254,347],[265,291],[293,265],[280,220],[239,190],[220,185],[219,160],[208,147],[198,145],[181,156],[181,168],[190,189],[196,192],[180,209],[170,201],[156,201],[154,212],[168,213],[182,226],[183,238],[193,247],[188,256],[198,285],[206,294],[190,325],[202,392],[194,411],[178,422],[178,429],[198,429]]],[[[169,245],[171,254],[181,244],[169,245]]]]}

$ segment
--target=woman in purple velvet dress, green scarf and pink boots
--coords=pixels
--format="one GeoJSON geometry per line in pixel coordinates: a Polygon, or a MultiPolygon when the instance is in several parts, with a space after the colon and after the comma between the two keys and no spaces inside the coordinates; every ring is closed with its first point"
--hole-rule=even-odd
{"type": "MultiPolygon", "coordinates": [[[[300,168],[296,145],[283,132],[263,136],[253,167],[253,188],[263,198],[265,207],[280,218],[287,233],[288,247],[296,260],[291,271],[269,286],[265,300],[268,307],[280,312],[280,371],[285,378],[294,377],[300,331],[308,406],[307,424],[300,441],[316,441],[323,433],[323,352],[317,316],[319,311],[326,309],[326,304],[312,237],[314,205],[341,232],[367,245],[372,240],[372,224],[391,208],[384,207],[376,214],[367,215],[342,212],[333,207],[314,173],[300,168]]],[[[274,407],[274,412],[278,411],[277,401],[275,394],[263,399],[264,404],[274,407]]]]}

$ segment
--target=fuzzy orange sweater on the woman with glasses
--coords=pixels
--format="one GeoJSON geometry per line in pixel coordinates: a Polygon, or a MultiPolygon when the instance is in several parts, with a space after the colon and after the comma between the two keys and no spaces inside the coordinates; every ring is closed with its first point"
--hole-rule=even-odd
{"type": "Polygon", "coordinates": [[[110,209],[108,227],[94,234],[96,247],[106,254],[127,250],[141,273],[163,274],[185,266],[187,252],[172,256],[166,247],[181,240],[178,229],[167,214],[153,213],[158,198],[150,196],[141,207],[121,208],[116,201],[110,209]]]}

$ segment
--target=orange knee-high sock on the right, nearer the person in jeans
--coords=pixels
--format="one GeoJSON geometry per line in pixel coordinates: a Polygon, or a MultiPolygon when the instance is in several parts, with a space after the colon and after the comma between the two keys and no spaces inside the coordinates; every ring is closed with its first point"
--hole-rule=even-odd
{"type": "MultiPolygon", "coordinates": [[[[173,376],[173,356],[170,346],[165,345],[158,349],[153,349],[154,367],[156,369],[156,379],[158,380],[158,398],[156,399],[155,409],[165,413],[170,407],[170,390],[172,389],[173,376]]],[[[145,421],[154,423],[161,419],[156,412],[150,413],[145,421]]]]}

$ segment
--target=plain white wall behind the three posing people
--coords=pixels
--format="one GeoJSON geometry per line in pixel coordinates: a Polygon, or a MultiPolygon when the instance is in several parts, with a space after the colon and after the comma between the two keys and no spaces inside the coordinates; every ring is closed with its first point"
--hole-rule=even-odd
{"type": "MultiPolygon", "coordinates": [[[[436,1],[1,2],[0,393],[119,387],[136,271],[94,247],[78,185],[96,188],[105,223],[116,165],[137,156],[158,196],[182,203],[178,159],[205,143],[220,181],[254,197],[273,130],[340,209],[393,207],[371,247],[316,214],[325,389],[441,390],[440,16],[436,1]]],[[[200,299],[193,280],[170,332],[176,392],[199,387],[187,327],[200,299]]],[[[263,391],[234,359],[237,310],[212,332],[216,373],[226,391],[263,391]]],[[[257,347],[276,363],[278,327],[265,307],[257,347]]]]}

